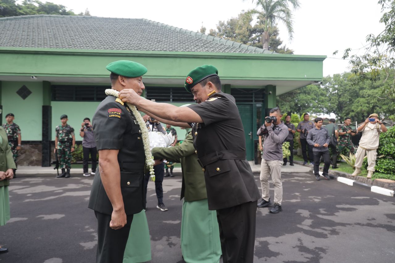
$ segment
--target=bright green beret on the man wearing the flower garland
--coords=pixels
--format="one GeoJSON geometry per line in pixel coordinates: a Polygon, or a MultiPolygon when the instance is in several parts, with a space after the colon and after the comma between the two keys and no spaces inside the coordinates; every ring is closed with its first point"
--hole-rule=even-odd
{"type": "Polygon", "coordinates": [[[130,60],[118,60],[105,67],[114,74],[128,78],[137,78],[147,73],[147,68],[140,63],[130,60]]]}

